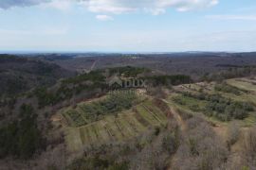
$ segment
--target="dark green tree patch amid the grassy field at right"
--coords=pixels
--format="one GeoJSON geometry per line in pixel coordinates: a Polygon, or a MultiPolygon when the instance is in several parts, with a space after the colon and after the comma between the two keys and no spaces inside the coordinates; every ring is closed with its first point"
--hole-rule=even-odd
{"type": "Polygon", "coordinates": [[[235,101],[223,97],[220,94],[209,93],[183,93],[182,96],[175,97],[174,102],[179,105],[186,105],[190,110],[200,111],[210,117],[215,117],[220,121],[230,121],[231,119],[245,119],[253,105],[248,102],[235,101]],[[192,104],[192,101],[199,101],[192,104]],[[186,101],[187,100],[187,101],[186,101]]]}

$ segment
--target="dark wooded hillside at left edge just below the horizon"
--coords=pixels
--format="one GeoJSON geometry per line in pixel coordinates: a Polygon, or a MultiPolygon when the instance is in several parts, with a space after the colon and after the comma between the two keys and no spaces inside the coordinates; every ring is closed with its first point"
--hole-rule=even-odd
{"type": "Polygon", "coordinates": [[[23,93],[39,85],[52,85],[74,73],[40,59],[0,55],[0,95],[23,93]]]}

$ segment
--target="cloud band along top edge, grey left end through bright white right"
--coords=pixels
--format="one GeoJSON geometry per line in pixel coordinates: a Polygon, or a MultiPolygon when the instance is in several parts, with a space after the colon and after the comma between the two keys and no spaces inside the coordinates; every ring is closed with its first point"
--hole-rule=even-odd
{"type": "Polygon", "coordinates": [[[130,13],[146,11],[152,14],[164,13],[167,8],[178,11],[210,8],[218,4],[218,0],[1,0],[0,8],[27,7],[44,3],[75,3],[96,13],[130,13]]]}

